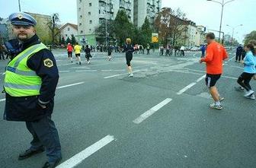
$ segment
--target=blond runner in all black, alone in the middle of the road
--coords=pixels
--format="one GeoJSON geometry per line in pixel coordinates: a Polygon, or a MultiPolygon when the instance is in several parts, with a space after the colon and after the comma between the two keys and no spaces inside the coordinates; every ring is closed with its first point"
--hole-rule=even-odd
{"type": "Polygon", "coordinates": [[[130,62],[133,59],[134,49],[131,43],[132,43],[132,40],[130,38],[127,38],[126,45],[123,48],[123,51],[126,52],[126,64],[128,66],[129,77],[133,77],[133,69],[130,62]]]}

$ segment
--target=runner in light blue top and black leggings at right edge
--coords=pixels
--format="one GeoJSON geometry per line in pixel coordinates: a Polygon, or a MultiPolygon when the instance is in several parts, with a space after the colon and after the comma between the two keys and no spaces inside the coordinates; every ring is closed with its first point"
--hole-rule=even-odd
{"type": "Polygon", "coordinates": [[[254,74],[256,74],[256,56],[254,46],[249,43],[245,46],[245,52],[244,72],[240,75],[237,81],[241,87],[235,87],[235,90],[243,91],[245,88],[245,97],[255,100],[254,90],[251,90],[250,86],[251,78],[253,78],[254,74]]]}

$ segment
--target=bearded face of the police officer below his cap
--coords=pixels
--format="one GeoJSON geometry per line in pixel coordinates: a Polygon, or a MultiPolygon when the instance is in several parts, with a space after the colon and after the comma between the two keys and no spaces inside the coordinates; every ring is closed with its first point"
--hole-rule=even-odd
{"type": "Polygon", "coordinates": [[[14,36],[18,37],[18,40],[26,41],[35,35],[36,30],[34,27],[24,27],[24,26],[13,26],[12,27],[14,36]]]}

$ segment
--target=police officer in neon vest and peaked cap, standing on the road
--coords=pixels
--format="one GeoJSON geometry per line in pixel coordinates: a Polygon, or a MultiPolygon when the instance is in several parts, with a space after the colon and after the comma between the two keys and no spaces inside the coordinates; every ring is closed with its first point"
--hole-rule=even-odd
{"type": "Polygon", "coordinates": [[[33,137],[31,146],[18,160],[46,150],[48,161],[55,167],[62,159],[59,135],[51,115],[59,72],[53,53],[40,42],[34,17],[25,13],[9,16],[15,40],[8,42],[14,57],[5,71],[5,115],[8,121],[26,122],[33,137]]]}

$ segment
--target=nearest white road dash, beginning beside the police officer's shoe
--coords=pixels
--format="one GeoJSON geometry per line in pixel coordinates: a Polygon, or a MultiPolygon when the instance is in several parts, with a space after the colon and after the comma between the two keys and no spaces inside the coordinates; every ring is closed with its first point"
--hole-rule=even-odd
{"type": "Polygon", "coordinates": [[[107,135],[106,137],[102,138],[100,141],[92,144],[90,147],[87,147],[84,151],[75,154],[75,156],[71,157],[69,160],[61,163],[56,168],[72,168],[77,166],[79,163],[82,163],[87,157],[90,157],[91,154],[99,151],[102,147],[110,144],[111,141],[114,141],[114,136],[107,135]]]}

